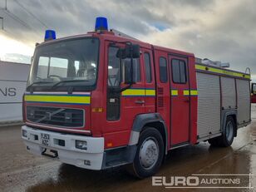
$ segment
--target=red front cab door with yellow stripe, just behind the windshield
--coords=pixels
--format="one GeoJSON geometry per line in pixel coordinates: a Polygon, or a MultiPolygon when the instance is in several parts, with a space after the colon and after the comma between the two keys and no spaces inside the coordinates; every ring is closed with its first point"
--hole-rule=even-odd
{"type": "Polygon", "coordinates": [[[106,125],[104,137],[106,146],[116,147],[127,145],[130,130],[135,116],[145,113],[145,81],[142,73],[142,57],[133,59],[133,79],[135,83],[129,86],[124,79],[126,68],[130,65],[130,58],[118,58],[119,48],[126,47],[124,43],[106,42],[106,125]],[[111,145],[108,145],[111,143],[111,145]]]}

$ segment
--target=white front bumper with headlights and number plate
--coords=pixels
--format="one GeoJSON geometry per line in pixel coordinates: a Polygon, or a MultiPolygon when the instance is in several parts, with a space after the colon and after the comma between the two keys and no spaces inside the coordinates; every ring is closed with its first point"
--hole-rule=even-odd
{"type": "Polygon", "coordinates": [[[27,146],[27,150],[34,155],[42,155],[43,151],[46,149],[55,150],[57,151],[57,159],[63,163],[76,165],[88,170],[101,170],[104,156],[103,137],[96,138],[62,134],[46,130],[38,130],[29,126],[22,126],[22,131],[27,131],[27,137],[22,135],[22,139],[27,146]],[[50,140],[47,146],[42,145],[42,134],[50,135],[50,140]],[[62,142],[58,142],[59,140],[62,140],[62,142]],[[77,149],[76,140],[86,141],[87,149],[77,149]]]}

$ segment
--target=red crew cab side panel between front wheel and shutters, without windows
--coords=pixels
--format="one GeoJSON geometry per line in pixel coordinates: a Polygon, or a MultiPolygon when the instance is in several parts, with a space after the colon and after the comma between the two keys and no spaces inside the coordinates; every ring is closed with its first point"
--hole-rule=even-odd
{"type": "Polygon", "coordinates": [[[157,85],[157,112],[168,126],[169,148],[185,143],[195,144],[197,140],[197,96],[184,96],[185,90],[197,90],[194,55],[162,47],[155,47],[155,74],[157,85]],[[160,81],[160,57],[167,61],[168,81],[160,81]],[[185,84],[172,81],[171,61],[179,59],[187,64],[185,84]],[[172,95],[173,93],[173,95],[172,95]]]}

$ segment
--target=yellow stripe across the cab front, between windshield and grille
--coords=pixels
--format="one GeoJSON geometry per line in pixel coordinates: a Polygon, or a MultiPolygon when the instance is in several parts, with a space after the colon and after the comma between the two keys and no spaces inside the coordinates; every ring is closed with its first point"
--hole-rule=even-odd
{"type": "Polygon", "coordinates": [[[69,104],[90,104],[91,96],[47,96],[47,95],[25,95],[28,102],[55,102],[69,104]]]}

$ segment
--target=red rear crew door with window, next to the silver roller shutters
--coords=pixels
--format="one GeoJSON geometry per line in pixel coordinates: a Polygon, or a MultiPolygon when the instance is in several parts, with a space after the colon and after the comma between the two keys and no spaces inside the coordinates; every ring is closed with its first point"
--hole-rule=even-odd
{"type": "Polygon", "coordinates": [[[186,57],[169,57],[171,146],[190,141],[190,79],[186,57]]]}

